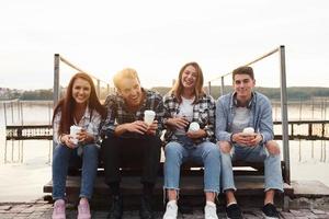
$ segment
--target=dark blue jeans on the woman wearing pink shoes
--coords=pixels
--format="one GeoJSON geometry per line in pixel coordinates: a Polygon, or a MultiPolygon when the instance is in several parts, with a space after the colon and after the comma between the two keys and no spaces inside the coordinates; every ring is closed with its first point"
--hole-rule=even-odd
{"type": "Polygon", "coordinates": [[[69,165],[81,162],[82,174],[80,196],[91,198],[93,184],[98,172],[99,148],[95,143],[82,146],[82,158],[78,155],[78,149],[70,149],[64,145],[57,145],[53,154],[53,198],[65,198],[66,177],[69,165]]]}

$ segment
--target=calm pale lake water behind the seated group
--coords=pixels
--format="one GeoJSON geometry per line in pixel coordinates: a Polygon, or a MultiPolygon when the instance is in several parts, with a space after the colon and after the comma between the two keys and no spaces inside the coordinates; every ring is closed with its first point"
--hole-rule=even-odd
{"type": "MultiPolygon", "coordinates": [[[[48,124],[52,117],[49,103],[22,103],[23,112],[13,104],[7,105],[7,123],[48,124]]],[[[324,104],[322,104],[324,105],[324,104]]],[[[274,104],[275,106],[275,104],[274,104]]],[[[317,110],[314,105],[290,106],[290,119],[329,119],[328,105],[317,110]]],[[[52,141],[24,140],[5,141],[3,104],[0,104],[0,201],[27,201],[41,198],[43,185],[52,178],[52,141]]],[[[274,119],[280,119],[280,110],[273,108],[274,119]]],[[[329,186],[329,142],[290,141],[291,177],[295,180],[317,180],[329,186]]]]}

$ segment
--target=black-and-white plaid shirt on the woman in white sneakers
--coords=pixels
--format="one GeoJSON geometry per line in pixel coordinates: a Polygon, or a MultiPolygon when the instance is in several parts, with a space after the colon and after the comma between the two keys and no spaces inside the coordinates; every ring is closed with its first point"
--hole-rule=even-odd
{"type": "MultiPolygon", "coordinates": [[[[167,94],[163,99],[164,104],[164,119],[175,117],[180,113],[180,103],[173,94],[167,94]]],[[[203,128],[207,136],[197,140],[196,143],[209,140],[215,140],[215,108],[216,104],[211,95],[204,94],[200,97],[198,102],[193,105],[192,122],[196,122],[200,128],[203,128]]],[[[177,136],[171,129],[167,129],[164,139],[166,141],[177,140],[177,136]]]]}

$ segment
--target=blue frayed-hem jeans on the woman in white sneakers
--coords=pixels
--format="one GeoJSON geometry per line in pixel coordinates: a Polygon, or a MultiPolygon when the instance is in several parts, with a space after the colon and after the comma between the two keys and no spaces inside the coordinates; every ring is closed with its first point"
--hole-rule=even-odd
{"type": "Polygon", "coordinates": [[[219,193],[220,152],[215,143],[193,145],[186,140],[171,141],[164,148],[164,188],[179,189],[180,168],[186,160],[204,164],[204,192],[219,193]]]}

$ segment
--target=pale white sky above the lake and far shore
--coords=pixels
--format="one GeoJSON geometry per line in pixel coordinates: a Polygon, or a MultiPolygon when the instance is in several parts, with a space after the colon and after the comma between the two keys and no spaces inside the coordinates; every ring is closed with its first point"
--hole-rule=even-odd
{"type": "MultiPolygon", "coordinates": [[[[54,54],[105,82],[135,68],[145,88],[170,87],[197,61],[205,83],[219,84],[280,45],[288,87],[329,87],[328,9],[328,0],[1,1],[0,88],[50,89],[54,54]]],[[[280,87],[277,54],[252,67],[257,85],[280,87]]],[[[61,62],[60,84],[75,72],[61,62]]]]}

